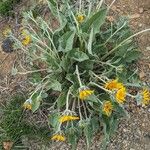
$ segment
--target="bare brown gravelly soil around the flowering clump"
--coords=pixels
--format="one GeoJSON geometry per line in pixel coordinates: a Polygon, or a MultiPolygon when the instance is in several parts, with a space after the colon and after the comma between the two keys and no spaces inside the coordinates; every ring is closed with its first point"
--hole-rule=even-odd
{"type": "MultiPolygon", "coordinates": [[[[112,0],[107,0],[109,5],[112,0]]],[[[116,0],[111,8],[111,17],[116,14],[128,16],[130,26],[134,32],[150,28],[150,0],[116,0]]],[[[0,28],[10,25],[10,21],[1,20],[0,28]]],[[[2,31],[2,30],[1,30],[2,31]]],[[[1,36],[1,41],[3,40],[1,36]]],[[[138,61],[139,75],[141,80],[150,86],[150,32],[136,37],[143,57],[138,61]]],[[[4,54],[0,49],[0,102],[7,99],[12,91],[22,85],[23,78],[11,75],[11,70],[17,60],[15,52],[4,54]]],[[[130,118],[123,120],[119,125],[119,130],[111,139],[108,150],[149,150],[150,149],[150,108],[137,107],[133,100],[129,100],[130,118]]],[[[97,135],[92,143],[91,150],[98,150],[102,135],[97,135]]],[[[29,143],[30,145],[30,143],[29,143]]],[[[31,145],[34,145],[31,143],[31,145]]],[[[36,145],[36,143],[35,143],[36,145]]],[[[38,150],[38,146],[35,150],[38,150]]],[[[34,148],[31,148],[34,150],[34,148]]],[[[45,148],[46,149],[46,148],[45,148]]],[[[49,149],[49,148],[47,148],[49,149]]],[[[54,144],[51,150],[69,150],[65,144],[54,144]]],[[[85,143],[81,140],[78,150],[84,150],[85,143]]]]}

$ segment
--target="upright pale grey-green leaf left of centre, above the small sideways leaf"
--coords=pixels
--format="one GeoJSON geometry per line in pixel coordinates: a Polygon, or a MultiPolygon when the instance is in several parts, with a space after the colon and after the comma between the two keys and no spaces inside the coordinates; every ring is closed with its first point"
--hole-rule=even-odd
{"type": "Polygon", "coordinates": [[[72,50],[75,32],[68,31],[59,39],[59,51],[68,52],[72,50]]]}

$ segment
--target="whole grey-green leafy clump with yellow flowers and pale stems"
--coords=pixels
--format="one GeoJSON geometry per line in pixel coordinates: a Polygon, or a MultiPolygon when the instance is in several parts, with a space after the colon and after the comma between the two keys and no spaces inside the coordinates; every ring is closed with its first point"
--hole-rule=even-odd
{"type": "MultiPolygon", "coordinates": [[[[140,57],[135,35],[126,18],[105,21],[109,8],[100,7],[97,1],[86,6],[70,0],[46,3],[51,18],[25,13],[23,28],[28,32],[23,32],[23,41],[14,38],[16,47],[25,52],[30,70],[32,101],[26,101],[24,108],[33,112],[46,109],[51,139],[66,140],[72,149],[81,137],[88,149],[102,126],[108,143],[127,114],[126,97],[137,99],[128,92],[137,80],[137,68],[131,70],[131,65],[140,57]]],[[[141,95],[147,105],[148,92],[141,95]]]]}

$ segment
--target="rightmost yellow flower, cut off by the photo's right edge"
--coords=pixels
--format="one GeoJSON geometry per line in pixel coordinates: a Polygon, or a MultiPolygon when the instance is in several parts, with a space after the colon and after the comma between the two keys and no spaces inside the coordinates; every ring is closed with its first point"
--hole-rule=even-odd
{"type": "Polygon", "coordinates": [[[150,92],[147,89],[142,92],[142,104],[144,106],[150,104],[150,92]]]}

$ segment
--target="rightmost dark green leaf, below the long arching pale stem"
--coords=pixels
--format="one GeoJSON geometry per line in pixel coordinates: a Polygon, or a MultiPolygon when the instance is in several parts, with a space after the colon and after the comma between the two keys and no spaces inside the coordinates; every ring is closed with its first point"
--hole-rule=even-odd
{"type": "Polygon", "coordinates": [[[141,52],[137,50],[132,50],[127,52],[125,60],[126,62],[131,63],[134,60],[137,60],[141,56],[141,52]]]}

